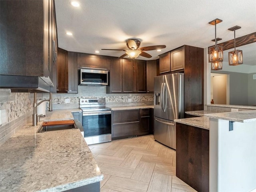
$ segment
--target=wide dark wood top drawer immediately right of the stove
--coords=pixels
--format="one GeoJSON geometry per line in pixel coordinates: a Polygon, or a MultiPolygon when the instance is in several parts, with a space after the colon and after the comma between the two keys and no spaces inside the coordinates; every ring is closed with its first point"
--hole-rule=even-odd
{"type": "Polygon", "coordinates": [[[126,122],[139,122],[140,110],[120,110],[112,112],[112,124],[126,123],[126,122]]]}

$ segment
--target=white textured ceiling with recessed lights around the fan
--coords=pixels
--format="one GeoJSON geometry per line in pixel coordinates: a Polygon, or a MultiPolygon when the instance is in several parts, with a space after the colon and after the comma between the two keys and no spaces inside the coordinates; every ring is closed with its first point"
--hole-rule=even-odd
{"type": "MultiPolygon", "coordinates": [[[[256,32],[255,0],[55,0],[58,46],[68,51],[121,56],[128,38],[138,38],[142,46],[166,45],[162,52],[147,51],[150,59],[184,44],[206,48],[214,45],[214,26],[208,22],[219,18],[217,37],[224,42],[234,39],[228,28],[241,26],[236,37],[256,32]],[[72,32],[73,36],[67,36],[72,32]]],[[[244,46],[254,59],[256,43],[244,46]]],[[[224,55],[228,59],[227,53],[224,55]]],[[[148,60],[142,56],[138,59],[148,60]]]]}

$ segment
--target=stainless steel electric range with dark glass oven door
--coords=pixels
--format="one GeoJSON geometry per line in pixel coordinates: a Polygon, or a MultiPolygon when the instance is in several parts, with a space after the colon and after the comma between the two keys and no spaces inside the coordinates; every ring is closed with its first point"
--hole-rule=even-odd
{"type": "Polygon", "coordinates": [[[105,98],[80,99],[84,139],[88,145],[111,141],[111,108],[105,98]]]}

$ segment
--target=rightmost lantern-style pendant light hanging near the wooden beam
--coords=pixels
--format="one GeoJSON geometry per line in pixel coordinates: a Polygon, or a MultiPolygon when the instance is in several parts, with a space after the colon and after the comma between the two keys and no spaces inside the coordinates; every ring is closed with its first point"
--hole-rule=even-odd
{"type": "Polygon", "coordinates": [[[234,26],[228,29],[230,31],[234,31],[235,50],[228,52],[228,64],[232,66],[243,64],[243,52],[242,50],[236,50],[236,30],[240,28],[240,26],[234,26]]]}

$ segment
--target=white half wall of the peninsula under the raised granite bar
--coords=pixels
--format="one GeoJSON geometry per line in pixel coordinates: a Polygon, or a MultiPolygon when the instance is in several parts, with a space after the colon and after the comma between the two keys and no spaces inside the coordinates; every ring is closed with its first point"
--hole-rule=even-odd
{"type": "Polygon", "coordinates": [[[255,138],[256,122],[234,122],[234,130],[229,131],[229,121],[210,119],[211,192],[216,191],[216,186],[218,192],[249,192],[256,188],[255,138]]]}

